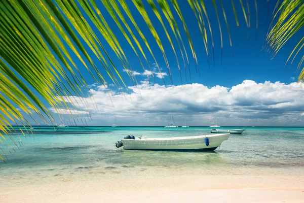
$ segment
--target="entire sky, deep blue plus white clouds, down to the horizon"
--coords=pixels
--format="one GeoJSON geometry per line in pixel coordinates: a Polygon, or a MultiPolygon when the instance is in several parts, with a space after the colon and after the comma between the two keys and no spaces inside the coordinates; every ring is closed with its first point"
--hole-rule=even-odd
{"type": "MultiPolygon", "coordinates": [[[[169,27],[169,24],[165,20],[165,17],[162,16],[165,22],[165,26],[169,30],[170,37],[173,40],[173,44],[178,55],[178,61],[182,68],[182,83],[180,81],[174,52],[172,51],[170,43],[166,38],[162,25],[156,18],[153,11],[149,8],[149,5],[144,1],[144,6],[148,12],[148,15],[150,16],[150,20],[153,22],[156,30],[158,31],[158,34],[164,46],[172,72],[173,84],[176,87],[175,89],[174,87],[170,86],[171,80],[168,76],[165,61],[157,43],[155,42],[147,25],[136,10],[135,6],[131,3],[131,1],[127,2],[133,14],[133,17],[136,19],[136,22],[145,35],[151,47],[151,50],[156,56],[156,59],[162,69],[162,73],[166,75],[164,78],[167,86],[164,86],[163,80],[158,77],[156,77],[155,81],[151,80],[153,83],[150,85],[153,87],[147,85],[147,77],[143,74],[143,69],[133,50],[124,39],[115,22],[110,18],[108,12],[104,9],[101,2],[97,2],[102,15],[107,20],[109,26],[115,33],[115,36],[118,38],[124,52],[126,53],[130,66],[132,67],[132,70],[136,75],[135,77],[140,84],[140,89],[144,93],[141,91],[137,92],[136,88],[128,78],[127,73],[123,71],[123,66],[116,55],[106,44],[97,29],[94,28],[96,30],[97,37],[100,39],[113,63],[120,71],[126,85],[129,87],[129,92],[131,95],[122,96],[118,94],[117,89],[111,85],[112,82],[110,81],[109,77],[106,76],[105,71],[101,67],[101,63],[97,60],[91,51],[88,51],[96,65],[99,67],[100,72],[105,76],[108,88],[112,91],[113,98],[108,98],[108,95],[104,93],[103,87],[94,84],[92,77],[87,71],[85,71],[84,65],[76,57],[74,57],[73,59],[77,63],[79,69],[82,70],[82,74],[86,81],[91,81],[91,83],[88,82],[88,84],[92,85],[92,92],[96,98],[95,100],[99,109],[99,111],[95,111],[93,104],[91,104],[90,109],[85,109],[82,107],[79,109],[80,113],[91,113],[93,120],[88,123],[89,125],[110,125],[114,121],[115,116],[119,118],[118,120],[120,120],[120,125],[165,125],[170,121],[169,115],[174,115],[177,117],[175,120],[180,120],[180,122],[183,121],[184,117],[187,117],[189,125],[209,125],[211,122],[213,122],[214,116],[218,117],[221,125],[229,126],[302,125],[302,117],[304,116],[302,107],[304,104],[302,104],[300,100],[292,98],[303,95],[301,87],[296,86],[293,83],[297,80],[297,76],[299,74],[296,71],[297,63],[293,64],[291,67],[287,65],[284,68],[286,59],[288,58],[294,46],[302,38],[302,34],[300,31],[297,32],[297,34],[288,43],[286,43],[286,45],[273,59],[267,51],[261,50],[265,42],[265,36],[276,1],[270,1],[270,12],[268,20],[267,1],[257,1],[257,30],[255,28],[256,13],[254,1],[249,1],[251,18],[251,27],[249,30],[246,26],[244,15],[239,2],[235,1],[237,15],[240,22],[240,26],[238,27],[236,25],[236,20],[233,14],[231,1],[222,1],[231,31],[233,43],[232,49],[230,47],[229,36],[222,15],[222,10],[219,1],[216,1],[223,37],[222,65],[220,32],[218,28],[217,18],[212,2],[205,1],[214,39],[214,66],[210,32],[207,30],[209,35],[208,39],[210,52],[210,64],[208,64],[197,19],[195,18],[195,15],[191,7],[189,7],[187,1],[178,1],[191,39],[194,43],[194,48],[198,58],[197,67],[200,70],[200,75],[196,73],[195,61],[192,57],[191,49],[187,43],[187,38],[185,32],[183,31],[182,23],[174,11],[171,3],[169,3],[171,6],[171,11],[173,12],[174,17],[178,23],[183,42],[189,56],[191,80],[189,80],[188,70],[186,71],[185,76],[183,61],[177,46],[177,42],[169,27]],[[247,39],[248,31],[249,40],[247,39]],[[185,80],[186,77],[187,81],[185,80]],[[178,89],[179,92],[176,92],[176,89],[178,89]],[[235,91],[231,92],[231,89],[234,89],[235,91]],[[196,94],[195,92],[191,92],[191,90],[197,90],[198,93],[196,94]],[[285,96],[282,96],[282,93],[285,94],[285,96]],[[162,94],[162,96],[160,94],[162,94]],[[262,94],[272,96],[269,97],[262,94]],[[153,96],[151,97],[151,95],[153,96]],[[190,97],[192,100],[195,100],[194,103],[191,102],[191,99],[189,99],[190,97]],[[208,102],[205,99],[207,99],[208,102]],[[166,108],[166,105],[167,107],[172,107],[172,109],[166,108]]],[[[131,21],[127,20],[127,22],[131,26],[131,21]]],[[[140,40],[140,37],[135,31],[134,26],[131,26],[131,28],[134,31],[137,39],[139,39],[141,42],[142,47],[144,47],[144,52],[146,53],[149,64],[151,67],[155,67],[153,57],[149,54],[142,40],[140,40]]],[[[139,52],[138,49],[137,51],[139,52]]],[[[301,55],[299,54],[299,56],[301,55]]],[[[297,57],[297,59],[299,60],[299,57],[297,57]]],[[[295,59],[295,61],[298,61],[297,59],[295,59]]],[[[148,70],[148,65],[145,63],[142,56],[141,60],[144,63],[145,69],[148,70]]],[[[155,72],[157,73],[157,71],[155,72]]],[[[126,90],[124,90],[124,92],[126,92],[126,90]]],[[[46,106],[50,107],[48,104],[46,104],[46,106]]],[[[64,114],[63,116],[65,118],[69,117],[68,115],[64,114]]],[[[56,118],[56,121],[60,123],[60,119],[58,116],[56,116],[56,114],[54,114],[54,117],[56,118]]],[[[78,124],[82,123],[78,122],[78,124]]]]}

